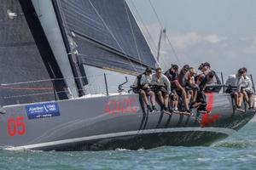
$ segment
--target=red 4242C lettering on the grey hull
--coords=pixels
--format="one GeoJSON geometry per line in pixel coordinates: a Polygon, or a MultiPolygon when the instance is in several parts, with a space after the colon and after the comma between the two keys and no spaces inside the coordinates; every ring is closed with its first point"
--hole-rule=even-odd
{"type": "Polygon", "coordinates": [[[135,103],[134,98],[110,99],[105,105],[105,112],[113,115],[115,113],[136,113],[135,103]]]}

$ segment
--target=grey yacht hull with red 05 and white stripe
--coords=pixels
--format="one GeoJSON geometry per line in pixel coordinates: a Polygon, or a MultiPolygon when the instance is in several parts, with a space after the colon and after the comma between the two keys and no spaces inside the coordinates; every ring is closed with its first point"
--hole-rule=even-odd
{"type": "Polygon", "coordinates": [[[207,124],[196,110],[193,116],[168,115],[160,108],[150,113],[137,94],[8,106],[0,119],[0,145],[9,150],[137,150],[161,145],[209,145],[239,130],[255,114],[234,111],[229,94],[211,94],[211,98],[207,124]],[[55,105],[57,109],[50,114],[43,110],[32,112],[38,108],[40,111],[42,105],[55,105]],[[217,118],[211,122],[214,116],[217,118]]]}

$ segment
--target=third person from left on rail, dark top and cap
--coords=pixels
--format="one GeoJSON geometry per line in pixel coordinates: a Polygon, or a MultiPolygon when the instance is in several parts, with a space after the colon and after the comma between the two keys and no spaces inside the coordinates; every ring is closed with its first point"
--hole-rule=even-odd
{"type": "Polygon", "coordinates": [[[177,111],[178,96],[176,92],[176,82],[178,77],[178,66],[172,65],[172,67],[165,73],[168,80],[171,82],[172,93],[169,99],[169,111],[177,111]]]}

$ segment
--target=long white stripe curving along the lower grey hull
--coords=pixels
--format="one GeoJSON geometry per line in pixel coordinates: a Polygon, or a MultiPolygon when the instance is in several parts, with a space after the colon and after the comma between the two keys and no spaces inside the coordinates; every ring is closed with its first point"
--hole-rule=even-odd
{"type": "Polygon", "coordinates": [[[54,142],[47,142],[41,144],[30,144],[24,146],[17,146],[17,147],[9,147],[6,150],[32,150],[32,149],[39,149],[47,146],[54,146],[60,144],[73,144],[77,142],[83,141],[90,141],[96,139],[108,139],[114,137],[125,137],[130,135],[139,135],[139,134],[149,134],[149,133],[176,133],[176,132],[211,132],[211,133],[224,133],[230,135],[235,133],[236,130],[231,128],[224,128],[224,127],[172,127],[172,128],[160,128],[160,129],[148,129],[142,131],[130,131],[130,132],[123,132],[123,133],[108,133],[108,134],[101,134],[89,137],[82,137],[76,139],[65,139],[65,140],[57,140],[54,142]]]}

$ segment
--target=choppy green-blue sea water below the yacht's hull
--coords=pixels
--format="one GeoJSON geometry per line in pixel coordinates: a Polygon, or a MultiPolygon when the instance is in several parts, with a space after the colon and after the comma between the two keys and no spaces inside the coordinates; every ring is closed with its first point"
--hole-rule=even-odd
{"type": "Polygon", "coordinates": [[[0,169],[256,169],[256,122],[209,147],[163,146],[152,150],[0,150],[0,169]]]}

